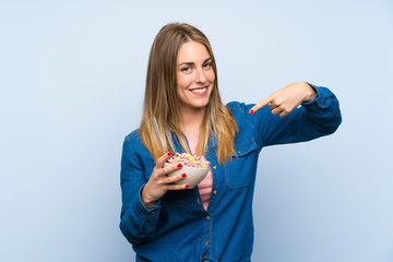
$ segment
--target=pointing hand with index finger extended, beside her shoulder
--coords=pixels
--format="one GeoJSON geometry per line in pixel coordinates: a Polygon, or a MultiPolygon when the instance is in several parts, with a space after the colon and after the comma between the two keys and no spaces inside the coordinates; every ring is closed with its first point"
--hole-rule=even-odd
{"type": "Polygon", "coordinates": [[[315,90],[305,82],[298,82],[278,90],[253,106],[249,114],[258,111],[269,105],[273,115],[279,114],[285,117],[305,102],[311,102],[315,97],[315,90]]]}

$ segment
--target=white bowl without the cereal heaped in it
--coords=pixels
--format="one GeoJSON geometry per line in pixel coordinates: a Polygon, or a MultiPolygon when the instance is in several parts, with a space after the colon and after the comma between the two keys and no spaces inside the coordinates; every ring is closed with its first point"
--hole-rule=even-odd
{"type": "MultiPolygon", "coordinates": [[[[170,166],[174,164],[170,164],[168,162],[166,162],[164,164],[164,166],[170,166]]],[[[175,182],[175,183],[188,183],[190,184],[190,187],[188,189],[193,189],[194,187],[196,187],[207,175],[210,167],[188,167],[188,166],[182,166],[180,169],[177,169],[172,172],[169,172],[168,176],[176,176],[176,175],[181,175],[183,172],[186,172],[187,177],[184,177],[183,179],[175,182]]]]}

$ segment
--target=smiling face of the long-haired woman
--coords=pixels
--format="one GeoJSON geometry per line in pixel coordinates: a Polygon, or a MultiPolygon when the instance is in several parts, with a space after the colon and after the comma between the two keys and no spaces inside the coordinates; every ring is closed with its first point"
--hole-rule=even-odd
{"type": "Polygon", "coordinates": [[[205,110],[215,80],[212,58],[204,45],[187,41],[177,56],[177,94],[182,111],[205,110]]]}

